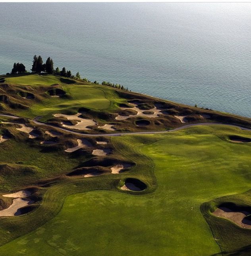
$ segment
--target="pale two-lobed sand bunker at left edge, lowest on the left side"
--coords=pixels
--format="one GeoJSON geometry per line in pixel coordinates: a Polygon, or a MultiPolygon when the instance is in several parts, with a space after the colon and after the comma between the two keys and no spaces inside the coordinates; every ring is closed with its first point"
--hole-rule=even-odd
{"type": "Polygon", "coordinates": [[[32,200],[27,200],[24,197],[31,195],[27,190],[21,190],[16,193],[3,195],[4,197],[13,197],[13,203],[7,209],[0,211],[0,216],[18,216],[21,215],[20,208],[33,203],[32,200]]]}

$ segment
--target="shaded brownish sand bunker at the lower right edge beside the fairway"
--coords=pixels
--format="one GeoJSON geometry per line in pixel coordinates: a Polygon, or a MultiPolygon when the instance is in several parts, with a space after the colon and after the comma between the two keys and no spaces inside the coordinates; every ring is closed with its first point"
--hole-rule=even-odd
{"type": "Polygon", "coordinates": [[[232,211],[227,207],[219,207],[212,214],[217,217],[229,219],[240,227],[251,229],[251,221],[245,219],[250,214],[248,211],[232,211]]]}

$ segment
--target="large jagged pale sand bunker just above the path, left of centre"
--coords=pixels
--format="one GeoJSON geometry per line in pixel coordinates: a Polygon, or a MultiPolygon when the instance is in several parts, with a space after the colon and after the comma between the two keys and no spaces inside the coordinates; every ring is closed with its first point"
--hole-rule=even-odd
{"type": "Polygon", "coordinates": [[[75,115],[54,114],[54,117],[65,117],[68,120],[77,121],[76,125],[62,123],[63,127],[70,128],[70,129],[90,130],[91,128],[87,128],[87,126],[97,125],[97,123],[93,119],[85,119],[85,118],[79,117],[80,115],[81,113],[77,113],[75,115]]]}

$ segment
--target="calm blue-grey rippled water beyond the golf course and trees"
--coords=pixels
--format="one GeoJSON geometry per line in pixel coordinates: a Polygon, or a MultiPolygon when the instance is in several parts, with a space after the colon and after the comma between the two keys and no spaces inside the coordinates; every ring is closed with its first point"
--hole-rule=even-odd
{"type": "Polygon", "coordinates": [[[251,117],[250,3],[0,3],[0,73],[33,55],[175,102],[251,117]]]}

